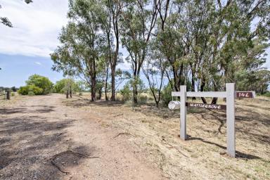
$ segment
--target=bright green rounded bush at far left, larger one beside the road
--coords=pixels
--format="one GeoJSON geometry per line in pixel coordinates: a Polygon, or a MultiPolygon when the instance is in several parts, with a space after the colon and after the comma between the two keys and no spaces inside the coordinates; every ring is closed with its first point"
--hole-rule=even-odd
{"type": "Polygon", "coordinates": [[[53,83],[47,77],[41,75],[32,75],[25,82],[27,86],[34,85],[42,89],[41,94],[49,94],[53,87],[53,83]]]}

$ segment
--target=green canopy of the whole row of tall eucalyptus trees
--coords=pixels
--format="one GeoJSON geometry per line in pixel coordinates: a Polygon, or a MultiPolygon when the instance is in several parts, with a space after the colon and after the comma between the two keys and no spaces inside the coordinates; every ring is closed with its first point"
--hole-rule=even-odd
{"type": "MultiPolygon", "coordinates": [[[[225,83],[236,82],[238,89],[264,94],[269,86],[262,65],[269,47],[270,1],[152,3],[70,0],[61,45],[51,54],[53,70],[84,78],[92,100],[96,90],[102,92],[104,79],[112,80],[113,90],[131,79],[129,88],[137,103],[144,89],[141,71],[157,104],[160,79],[165,77],[176,91],[184,84],[188,91],[223,91],[225,83]],[[113,69],[122,59],[115,46],[119,40],[127,49],[131,75],[113,69]]],[[[163,89],[165,104],[171,99],[168,88],[163,89]]]]}

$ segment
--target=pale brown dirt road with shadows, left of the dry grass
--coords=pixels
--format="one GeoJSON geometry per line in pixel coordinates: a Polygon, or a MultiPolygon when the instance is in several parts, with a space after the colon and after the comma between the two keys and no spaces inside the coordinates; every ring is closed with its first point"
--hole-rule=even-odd
{"type": "Polygon", "coordinates": [[[0,107],[0,179],[162,179],[129,134],[101,122],[105,112],[63,100],[20,96],[0,107]]]}

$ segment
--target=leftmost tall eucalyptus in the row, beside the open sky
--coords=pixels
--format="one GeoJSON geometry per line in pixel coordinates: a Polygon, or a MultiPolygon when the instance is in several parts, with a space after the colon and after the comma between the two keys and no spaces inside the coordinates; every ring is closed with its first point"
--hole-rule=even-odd
{"type": "Polygon", "coordinates": [[[77,75],[91,86],[91,101],[96,101],[96,73],[101,58],[103,37],[98,12],[98,1],[70,0],[68,25],[60,34],[60,46],[51,54],[53,70],[64,75],[77,75]]]}

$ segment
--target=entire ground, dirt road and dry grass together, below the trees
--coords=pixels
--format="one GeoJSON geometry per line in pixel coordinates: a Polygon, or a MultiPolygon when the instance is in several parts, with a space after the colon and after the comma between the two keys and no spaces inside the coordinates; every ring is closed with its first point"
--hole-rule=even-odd
{"type": "Polygon", "coordinates": [[[236,101],[236,158],[224,111],[189,108],[181,141],[179,110],[85,98],[1,101],[0,179],[270,179],[270,98],[236,101]]]}

